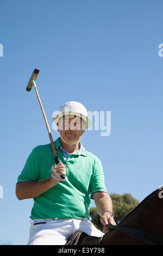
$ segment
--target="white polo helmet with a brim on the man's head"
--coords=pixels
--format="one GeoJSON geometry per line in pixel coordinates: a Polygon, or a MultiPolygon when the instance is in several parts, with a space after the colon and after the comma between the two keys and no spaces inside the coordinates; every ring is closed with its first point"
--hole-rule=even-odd
{"type": "Polygon", "coordinates": [[[57,124],[59,119],[64,115],[76,115],[77,117],[82,118],[85,121],[87,128],[92,125],[92,120],[87,116],[86,108],[77,101],[69,101],[62,105],[59,113],[55,114],[53,117],[54,123],[57,124]]]}

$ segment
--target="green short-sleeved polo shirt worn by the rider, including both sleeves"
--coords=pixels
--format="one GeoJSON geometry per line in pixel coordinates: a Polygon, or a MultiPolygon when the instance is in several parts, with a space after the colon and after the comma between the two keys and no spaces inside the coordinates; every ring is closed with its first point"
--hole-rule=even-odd
{"type": "MultiPolygon", "coordinates": [[[[101,161],[87,152],[81,143],[80,154],[76,151],[66,160],[60,149],[60,139],[58,138],[54,143],[60,161],[66,164],[66,179],[34,198],[30,218],[89,218],[91,220],[90,194],[106,192],[101,161]]],[[[51,144],[40,145],[29,155],[17,182],[49,178],[51,167],[54,165],[51,144]]]]}

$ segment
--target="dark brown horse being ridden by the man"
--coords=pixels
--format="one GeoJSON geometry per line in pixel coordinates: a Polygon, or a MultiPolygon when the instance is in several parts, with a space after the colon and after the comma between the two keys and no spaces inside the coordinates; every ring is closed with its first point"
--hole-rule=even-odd
{"type": "Polygon", "coordinates": [[[163,198],[156,190],[102,237],[82,234],[77,245],[163,245],[163,198]]]}

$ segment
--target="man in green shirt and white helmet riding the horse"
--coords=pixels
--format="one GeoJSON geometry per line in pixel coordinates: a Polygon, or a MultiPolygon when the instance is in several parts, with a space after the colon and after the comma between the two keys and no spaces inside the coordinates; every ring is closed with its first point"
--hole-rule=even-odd
{"type": "Polygon", "coordinates": [[[16,184],[18,199],[34,198],[28,245],[65,245],[77,231],[104,235],[90,222],[90,194],[104,232],[108,231],[105,225],[115,224],[101,161],[79,142],[92,124],[86,108],[79,102],[67,102],[53,120],[60,133],[54,144],[61,162],[54,164],[51,144],[40,145],[29,155],[16,184]]]}

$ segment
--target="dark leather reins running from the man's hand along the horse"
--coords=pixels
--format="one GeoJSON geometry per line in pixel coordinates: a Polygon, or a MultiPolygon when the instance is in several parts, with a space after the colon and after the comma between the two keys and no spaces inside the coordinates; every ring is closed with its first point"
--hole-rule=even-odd
{"type": "Polygon", "coordinates": [[[163,236],[153,235],[153,234],[147,233],[145,231],[141,231],[141,230],[134,229],[134,228],[123,227],[121,225],[108,224],[106,227],[110,228],[110,229],[115,229],[115,230],[121,231],[127,235],[133,236],[133,237],[135,237],[143,242],[149,243],[151,245],[163,245],[163,236]]]}

